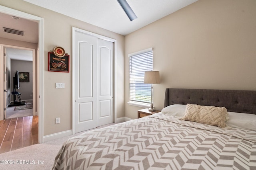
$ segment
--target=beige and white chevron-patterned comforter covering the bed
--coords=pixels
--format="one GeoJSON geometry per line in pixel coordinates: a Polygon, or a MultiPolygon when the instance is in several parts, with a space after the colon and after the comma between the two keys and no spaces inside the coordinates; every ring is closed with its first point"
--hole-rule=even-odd
{"type": "Polygon", "coordinates": [[[164,113],[68,139],[54,170],[256,170],[256,131],[164,113]]]}

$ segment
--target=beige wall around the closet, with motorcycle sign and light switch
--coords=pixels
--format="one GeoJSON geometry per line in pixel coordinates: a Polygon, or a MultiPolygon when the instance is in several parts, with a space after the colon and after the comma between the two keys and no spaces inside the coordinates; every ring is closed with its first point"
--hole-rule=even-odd
{"type": "Polygon", "coordinates": [[[117,117],[124,116],[124,36],[46,10],[22,0],[0,1],[0,5],[44,18],[44,136],[72,129],[72,27],[117,40],[117,117]],[[61,46],[70,55],[70,72],[48,72],[48,51],[61,46]],[[56,89],[55,82],[64,82],[56,89]],[[60,117],[60,124],[55,124],[60,117]]]}

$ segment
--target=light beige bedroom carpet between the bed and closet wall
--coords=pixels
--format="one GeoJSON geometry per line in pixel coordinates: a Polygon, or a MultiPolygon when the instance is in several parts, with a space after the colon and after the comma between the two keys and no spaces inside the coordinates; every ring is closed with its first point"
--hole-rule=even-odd
{"type": "MultiPolygon", "coordinates": [[[[114,123],[103,125],[98,128],[103,128],[112,124],[114,123]]],[[[81,133],[84,133],[84,132],[81,132],[81,133]]],[[[81,133],[77,133],[73,136],[56,139],[46,143],[36,144],[36,145],[32,145],[22,149],[17,149],[10,152],[2,153],[0,154],[0,161],[1,161],[0,169],[1,170],[51,170],[54,164],[55,156],[57,155],[64,141],[66,141],[66,139],[70,137],[74,137],[81,133]],[[11,162],[12,164],[7,164],[9,162],[11,162]]]]}

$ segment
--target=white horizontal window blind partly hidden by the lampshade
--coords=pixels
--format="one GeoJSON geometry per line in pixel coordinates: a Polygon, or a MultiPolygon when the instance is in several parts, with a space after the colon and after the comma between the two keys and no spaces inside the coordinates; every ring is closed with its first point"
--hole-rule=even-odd
{"type": "Polygon", "coordinates": [[[153,49],[130,56],[130,102],[151,103],[151,84],[144,84],[144,72],[153,70],[153,49]]]}

